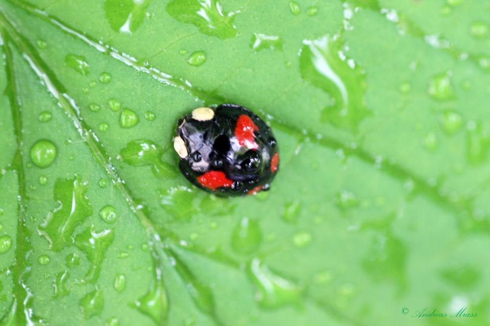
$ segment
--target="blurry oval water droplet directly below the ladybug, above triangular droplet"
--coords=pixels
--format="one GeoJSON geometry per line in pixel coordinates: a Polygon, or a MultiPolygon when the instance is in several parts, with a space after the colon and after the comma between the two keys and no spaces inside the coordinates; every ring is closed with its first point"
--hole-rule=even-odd
{"type": "Polygon", "coordinates": [[[231,238],[233,250],[240,254],[250,254],[256,251],[262,242],[262,232],[259,222],[248,217],[242,218],[235,226],[231,238]]]}

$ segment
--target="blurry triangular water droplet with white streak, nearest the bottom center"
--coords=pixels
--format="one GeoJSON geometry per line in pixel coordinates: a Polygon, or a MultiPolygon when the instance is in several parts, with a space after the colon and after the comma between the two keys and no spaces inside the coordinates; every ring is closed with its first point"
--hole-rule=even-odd
{"type": "Polygon", "coordinates": [[[277,308],[285,304],[299,304],[302,289],[275,273],[258,258],[250,263],[250,277],[257,285],[257,300],[263,307],[277,308]]]}

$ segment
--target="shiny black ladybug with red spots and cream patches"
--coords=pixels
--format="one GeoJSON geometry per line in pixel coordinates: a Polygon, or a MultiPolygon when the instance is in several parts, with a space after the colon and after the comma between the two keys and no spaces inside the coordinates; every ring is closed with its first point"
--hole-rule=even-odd
{"type": "Polygon", "coordinates": [[[173,147],[182,174],[218,196],[245,196],[269,190],[279,169],[272,130],[242,106],[197,108],[177,122],[173,147]]]}

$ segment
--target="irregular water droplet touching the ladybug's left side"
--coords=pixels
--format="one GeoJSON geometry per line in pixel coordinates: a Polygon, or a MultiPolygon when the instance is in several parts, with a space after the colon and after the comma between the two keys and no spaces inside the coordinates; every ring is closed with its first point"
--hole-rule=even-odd
{"type": "Polygon", "coordinates": [[[133,140],[119,153],[124,163],[131,166],[150,166],[153,175],[159,178],[176,176],[176,171],[167,162],[162,162],[164,150],[148,139],[133,140]]]}

